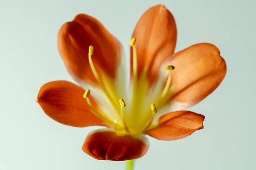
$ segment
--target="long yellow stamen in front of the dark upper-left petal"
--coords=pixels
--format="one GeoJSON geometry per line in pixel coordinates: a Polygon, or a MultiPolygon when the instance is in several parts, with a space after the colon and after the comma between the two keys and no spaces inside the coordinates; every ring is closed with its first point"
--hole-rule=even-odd
{"type": "Polygon", "coordinates": [[[97,82],[99,83],[100,87],[102,88],[102,90],[104,91],[104,93],[106,94],[106,96],[108,97],[108,99],[110,100],[111,102],[111,105],[113,106],[113,108],[116,110],[116,113],[118,113],[118,108],[116,108],[116,105],[115,105],[115,102],[114,100],[112,99],[112,97],[110,96],[110,94],[108,93],[107,89],[105,88],[105,86],[103,85],[101,79],[99,78],[99,74],[97,73],[96,71],[96,68],[94,67],[94,64],[93,64],[93,60],[92,60],[92,57],[91,55],[93,54],[93,51],[94,51],[94,48],[92,45],[90,45],[89,47],[89,52],[88,52],[88,58],[89,58],[89,64],[90,64],[90,68],[93,72],[93,75],[94,77],[96,78],[97,82]]]}

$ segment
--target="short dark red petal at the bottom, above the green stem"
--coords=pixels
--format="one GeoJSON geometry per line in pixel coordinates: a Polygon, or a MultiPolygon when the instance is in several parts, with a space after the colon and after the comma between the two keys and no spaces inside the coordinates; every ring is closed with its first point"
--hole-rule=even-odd
{"type": "Polygon", "coordinates": [[[87,136],[82,150],[95,159],[125,161],[144,156],[148,147],[148,139],[142,134],[131,136],[101,129],[87,136]]]}

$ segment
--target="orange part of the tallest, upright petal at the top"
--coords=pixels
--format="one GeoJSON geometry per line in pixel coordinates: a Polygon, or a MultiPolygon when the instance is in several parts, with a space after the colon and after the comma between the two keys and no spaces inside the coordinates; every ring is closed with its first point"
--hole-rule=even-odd
{"type": "MultiPolygon", "coordinates": [[[[177,28],[174,17],[165,6],[153,6],[138,21],[133,37],[136,38],[138,75],[146,67],[149,78],[155,79],[163,61],[175,50],[177,28]]],[[[131,74],[132,63],[131,52],[131,74]]]]}

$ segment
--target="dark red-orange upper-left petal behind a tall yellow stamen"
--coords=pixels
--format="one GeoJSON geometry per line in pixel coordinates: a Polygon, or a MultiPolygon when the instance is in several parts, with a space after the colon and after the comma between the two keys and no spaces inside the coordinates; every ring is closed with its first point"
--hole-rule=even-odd
{"type": "Polygon", "coordinates": [[[92,59],[98,73],[102,69],[110,77],[115,77],[122,45],[102,23],[89,15],[79,14],[59,30],[58,51],[67,71],[77,82],[96,82],[88,62],[90,45],[94,46],[92,59]]]}

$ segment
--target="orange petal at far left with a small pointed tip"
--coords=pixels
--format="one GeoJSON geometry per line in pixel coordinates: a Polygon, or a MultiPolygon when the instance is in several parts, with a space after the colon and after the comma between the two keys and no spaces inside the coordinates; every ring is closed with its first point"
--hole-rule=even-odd
{"type": "Polygon", "coordinates": [[[36,101],[50,118],[64,125],[105,126],[105,122],[92,113],[83,94],[84,89],[71,82],[54,81],[41,87],[36,101]]]}

